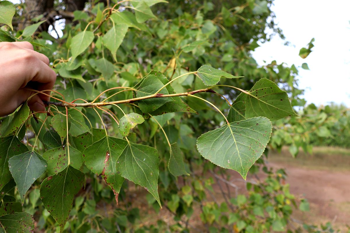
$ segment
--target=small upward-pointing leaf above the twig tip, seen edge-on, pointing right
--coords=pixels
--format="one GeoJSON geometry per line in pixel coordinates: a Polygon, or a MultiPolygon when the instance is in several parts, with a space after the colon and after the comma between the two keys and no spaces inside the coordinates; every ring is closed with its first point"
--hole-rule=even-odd
{"type": "Polygon", "coordinates": [[[221,78],[240,78],[239,76],[233,76],[225,71],[215,69],[211,66],[204,65],[197,70],[198,76],[202,79],[203,83],[207,86],[214,86],[220,81],[221,78]]]}

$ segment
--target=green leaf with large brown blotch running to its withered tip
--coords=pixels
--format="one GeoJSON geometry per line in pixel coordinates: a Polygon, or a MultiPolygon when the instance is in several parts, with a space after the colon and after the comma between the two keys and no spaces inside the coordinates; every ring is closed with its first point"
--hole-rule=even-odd
{"type": "Polygon", "coordinates": [[[106,183],[116,195],[117,203],[118,193],[124,178],[117,171],[116,162],[126,145],[127,141],[123,139],[105,136],[87,147],[83,153],[86,167],[97,175],[102,174],[106,183]]]}

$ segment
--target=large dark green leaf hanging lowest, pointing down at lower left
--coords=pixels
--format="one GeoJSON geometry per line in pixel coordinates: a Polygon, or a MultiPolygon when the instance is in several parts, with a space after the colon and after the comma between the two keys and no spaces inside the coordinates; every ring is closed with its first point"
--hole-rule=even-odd
{"type": "Polygon", "coordinates": [[[84,173],[68,166],[62,172],[47,177],[40,186],[41,201],[59,224],[60,232],[63,232],[73,206],[73,198],[83,186],[83,182],[84,173]]]}

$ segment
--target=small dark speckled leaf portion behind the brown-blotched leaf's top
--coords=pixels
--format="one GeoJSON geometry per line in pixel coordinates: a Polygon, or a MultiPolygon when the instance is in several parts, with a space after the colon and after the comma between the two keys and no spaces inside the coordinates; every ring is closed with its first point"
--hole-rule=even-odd
{"type": "Polygon", "coordinates": [[[75,147],[82,153],[84,152],[86,147],[91,146],[93,143],[101,140],[103,137],[106,136],[105,131],[102,129],[93,128],[91,131],[92,134],[89,132],[82,133],[73,139],[75,147]]]}

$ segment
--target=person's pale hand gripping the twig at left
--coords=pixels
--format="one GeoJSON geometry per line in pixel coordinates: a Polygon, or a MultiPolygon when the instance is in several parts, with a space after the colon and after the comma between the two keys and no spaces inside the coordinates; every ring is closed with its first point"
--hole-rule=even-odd
{"type": "MultiPolygon", "coordinates": [[[[11,114],[36,93],[26,88],[39,91],[53,88],[56,73],[49,62],[29,42],[0,42],[0,116],[11,114]]],[[[49,100],[49,96],[37,94],[28,100],[28,106],[35,112],[45,111],[43,101],[49,100]]]]}

